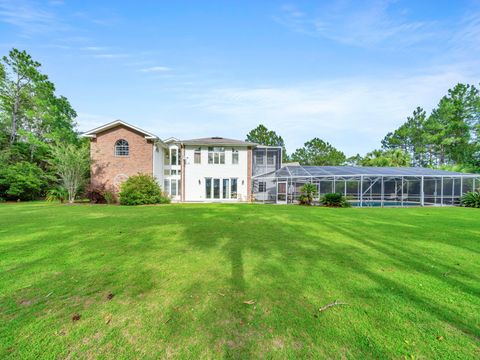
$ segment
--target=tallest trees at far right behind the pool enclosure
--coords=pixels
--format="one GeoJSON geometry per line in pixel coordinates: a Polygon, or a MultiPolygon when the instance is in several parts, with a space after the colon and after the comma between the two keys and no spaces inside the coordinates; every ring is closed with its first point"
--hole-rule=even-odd
{"type": "Polygon", "coordinates": [[[480,94],[473,85],[448,90],[430,115],[418,107],[382,141],[386,150],[401,149],[415,166],[480,167],[480,94]]]}

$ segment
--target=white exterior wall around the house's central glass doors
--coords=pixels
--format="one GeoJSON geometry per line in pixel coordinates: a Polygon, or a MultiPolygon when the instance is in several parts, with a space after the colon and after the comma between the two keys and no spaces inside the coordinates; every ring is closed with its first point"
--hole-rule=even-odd
{"type": "MultiPolygon", "coordinates": [[[[184,200],[185,201],[211,201],[211,202],[236,202],[248,201],[249,165],[248,157],[251,150],[246,147],[238,149],[238,164],[232,164],[232,147],[225,146],[225,164],[208,163],[208,146],[201,146],[201,163],[194,163],[195,149],[199,146],[185,146],[184,148],[184,200]],[[207,199],[205,196],[205,179],[232,179],[237,180],[236,199],[207,199]]],[[[220,194],[222,194],[222,180],[220,181],[220,194]]]]}

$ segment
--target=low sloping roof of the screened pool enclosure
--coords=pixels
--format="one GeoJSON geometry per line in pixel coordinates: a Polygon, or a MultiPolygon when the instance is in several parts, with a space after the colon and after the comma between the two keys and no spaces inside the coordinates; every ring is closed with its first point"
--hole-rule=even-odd
{"type": "MultiPolygon", "coordinates": [[[[324,177],[324,176],[458,176],[460,172],[421,167],[370,166],[302,166],[287,165],[258,177],[324,177]]],[[[471,175],[471,174],[470,174],[471,175]]]]}

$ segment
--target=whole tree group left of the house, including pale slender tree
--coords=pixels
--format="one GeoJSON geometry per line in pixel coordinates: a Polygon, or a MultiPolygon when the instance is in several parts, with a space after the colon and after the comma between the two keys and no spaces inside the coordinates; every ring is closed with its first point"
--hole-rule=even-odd
{"type": "Polygon", "coordinates": [[[12,49],[1,58],[0,201],[33,200],[49,190],[73,201],[89,171],[76,116],[29,54],[12,49]]]}

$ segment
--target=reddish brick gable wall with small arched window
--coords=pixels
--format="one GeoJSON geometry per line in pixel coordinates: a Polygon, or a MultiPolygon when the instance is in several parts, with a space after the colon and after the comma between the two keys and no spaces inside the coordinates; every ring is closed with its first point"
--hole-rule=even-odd
{"type": "Polygon", "coordinates": [[[92,186],[118,191],[129,176],[144,173],[152,175],[153,143],[136,131],[119,125],[96,134],[90,142],[92,186]],[[125,139],[129,155],[115,156],[115,142],[125,139]]]}

